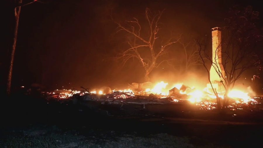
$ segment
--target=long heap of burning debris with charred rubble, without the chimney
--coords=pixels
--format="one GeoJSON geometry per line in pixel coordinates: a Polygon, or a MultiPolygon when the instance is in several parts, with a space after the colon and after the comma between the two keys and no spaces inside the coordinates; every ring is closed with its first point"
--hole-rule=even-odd
{"type": "MultiPolygon", "coordinates": [[[[191,103],[202,110],[216,109],[216,96],[208,88],[198,90],[182,83],[175,84],[167,89],[168,83],[163,81],[153,85],[151,82],[142,84],[132,83],[127,90],[55,90],[49,92],[49,98],[72,99],[81,101],[98,101],[101,104],[176,104],[191,103]],[[149,88],[150,87],[150,88],[149,88]],[[171,89],[172,88],[172,89],[171,89]],[[104,93],[103,93],[104,92],[104,93]]],[[[224,92],[218,93],[221,99],[224,92]]],[[[255,99],[239,90],[229,92],[228,108],[231,110],[243,109],[254,104],[259,104],[255,99]]]]}

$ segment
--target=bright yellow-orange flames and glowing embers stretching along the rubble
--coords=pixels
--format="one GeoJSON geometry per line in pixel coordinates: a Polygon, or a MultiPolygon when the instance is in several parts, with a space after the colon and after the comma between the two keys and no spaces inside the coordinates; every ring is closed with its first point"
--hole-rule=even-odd
{"type": "MultiPolygon", "coordinates": [[[[198,90],[195,87],[187,87],[183,85],[183,83],[177,83],[173,85],[173,87],[166,88],[168,86],[167,82],[161,81],[156,83],[153,88],[144,89],[142,92],[136,92],[131,89],[124,90],[112,90],[112,93],[116,94],[115,99],[118,98],[128,98],[128,97],[136,97],[136,95],[149,95],[154,94],[160,101],[163,98],[170,97],[172,98],[172,102],[182,102],[184,100],[190,101],[191,103],[200,106],[200,109],[215,109],[216,108],[216,96],[211,89],[205,87],[203,90],[198,90]],[[169,94],[169,91],[173,90],[172,88],[176,88],[174,90],[174,94],[169,94]]],[[[198,87],[199,88],[199,87],[198,87]]],[[[66,99],[72,97],[73,94],[83,95],[86,93],[105,95],[102,90],[94,90],[91,92],[81,92],[77,90],[55,90],[54,92],[50,92],[50,95],[57,96],[59,99],[66,99]]],[[[110,93],[110,94],[112,94],[110,93]]],[[[218,97],[224,99],[225,92],[218,92],[218,97]]],[[[236,109],[242,109],[240,104],[248,105],[248,104],[257,104],[257,101],[252,99],[248,93],[242,92],[240,90],[231,90],[227,96],[230,98],[231,104],[228,106],[233,109],[236,106],[236,109]]]]}

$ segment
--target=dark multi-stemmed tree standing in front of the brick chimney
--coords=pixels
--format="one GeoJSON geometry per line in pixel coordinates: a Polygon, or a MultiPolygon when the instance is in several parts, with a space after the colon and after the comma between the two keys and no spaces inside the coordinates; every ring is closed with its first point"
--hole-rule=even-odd
{"type": "MultiPolygon", "coordinates": [[[[218,45],[216,50],[222,47],[222,57],[215,54],[210,56],[207,50],[207,42],[198,41],[200,53],[203,51],[203,65],[208,72],[209,82],[214,94],[217,96],[217,107],[221,108],[220,98],[217,90],[213,88],[210,80],[209,67],[205,64],[205,60],[214,68],[217,75],[222,78],[221,83],[224,87],[223,108],[229,104],[228,93],[233,89],[236,81],[241,77],[242,73],[254,66],[258,66],[259,55],[256,52],[256,45],[261,41],[262,32],[256,26],[259,13],[252,10],[248,6],[240,10],[237,6],[233,7],[229,12],[229,17],[226,18],[227,26],[223,27],[222,43],[218,45]],[[217,58],[222,58],[222,63],[217,63],[217,58]],[[220,66],[223,66],[224,71],[220,66]],[[222,77],[223,76],[223,77],[222,77]]],[[[201,54],[200,54],[201,55],[201,54]]]]}

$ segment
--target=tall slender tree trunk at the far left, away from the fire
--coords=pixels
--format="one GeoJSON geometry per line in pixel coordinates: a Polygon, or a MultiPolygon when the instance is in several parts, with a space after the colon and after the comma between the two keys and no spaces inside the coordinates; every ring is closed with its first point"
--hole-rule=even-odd
{"type": "MultiPolygon", "coordinates": [[[[18,3],[21,4],[22,0],[19,0],[18,3]]],[[[11,57],[10,57],[10,67],[9,67],[8,78],[7,78],[7,90],[6,90],[7,94],[10,94],[11,92],[11,81],[12,81],[13,63],[15,57],[20,10],[21,10],[21,6],[15,8],[15,30],[14,30],[14,40],[13,40],[13,46],[11,51],[11,57]]]]}

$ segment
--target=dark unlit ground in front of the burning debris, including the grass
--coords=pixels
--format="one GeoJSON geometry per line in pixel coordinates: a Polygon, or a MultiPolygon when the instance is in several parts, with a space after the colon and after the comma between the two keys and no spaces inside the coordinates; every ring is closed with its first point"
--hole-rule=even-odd
{"type": "Polygon", "coordinates": [[[1,104],[0,147],[262,147],[261,109],[233,116],[178,108],[117,116],[15,95],[1,104]]]}

